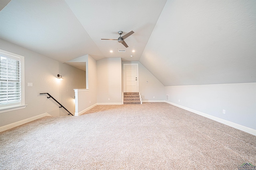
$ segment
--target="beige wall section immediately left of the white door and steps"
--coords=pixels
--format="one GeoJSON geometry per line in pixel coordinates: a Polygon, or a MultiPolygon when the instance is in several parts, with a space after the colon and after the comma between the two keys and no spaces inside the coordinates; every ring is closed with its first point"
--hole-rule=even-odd
{"type": "MultiPolygon", "coordinates": [[[[97,61],[98,104],[122,103],[121,58],[106,58],[97,61]],[[108,100],[108,98],[110,100],[108,100]]],[[[89,82],[90,83],[90,82],[89,82]]]]}

